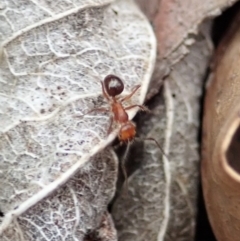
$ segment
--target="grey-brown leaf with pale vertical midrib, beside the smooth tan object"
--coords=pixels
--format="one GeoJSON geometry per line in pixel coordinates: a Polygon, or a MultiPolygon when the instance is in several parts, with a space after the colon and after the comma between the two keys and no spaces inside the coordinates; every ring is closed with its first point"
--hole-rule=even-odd
{"type": "Polygon", "coordinates": [[[141,118],[139,133],[161,143],[165,155],[150,141],[137,149],[137,160],[130,155],[129,162],[140,167],[129,177],[128,195],[120,194],[113,205],[119,241],[194,240],[199,101],[212,51],[208,41],[199,34],[165,80],[164,98],[155,98],[153,114],[141,118]]]}

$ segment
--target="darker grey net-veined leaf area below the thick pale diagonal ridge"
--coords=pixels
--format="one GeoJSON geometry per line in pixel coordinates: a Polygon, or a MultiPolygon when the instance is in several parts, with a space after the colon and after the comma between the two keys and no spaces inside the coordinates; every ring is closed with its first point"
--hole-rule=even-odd
{"type": "MultiPolygon", "coordinates": [[[[98,153],[64,186],[13,220],[1,240],[84,240],[101,229],[117,179],[118,159],[111,150],[98,153]]],[[[112,239],[116,231],[112,225],[112,239]]],[[[106,238],[106,237],[105,237],[106,238]]]]}

